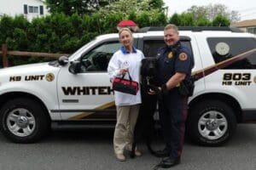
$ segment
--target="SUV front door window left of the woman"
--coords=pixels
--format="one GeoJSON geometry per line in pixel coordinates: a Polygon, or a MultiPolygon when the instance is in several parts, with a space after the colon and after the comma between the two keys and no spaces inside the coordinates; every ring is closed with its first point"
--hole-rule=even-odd
{"type": "Polygon", "coordinates": [[[112,55],[119,50],[119,42],[104,42],[82,56],[82,72],[107,71],[112,55]]]}

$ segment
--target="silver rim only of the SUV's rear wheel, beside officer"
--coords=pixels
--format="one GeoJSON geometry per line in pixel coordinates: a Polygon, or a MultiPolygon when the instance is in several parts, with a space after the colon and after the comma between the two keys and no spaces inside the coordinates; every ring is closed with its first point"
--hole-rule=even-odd
{"type": "Polygon", "coordinates": [[[219,111],[207,111],[198,122],[199,133],[206,139],[219,139],[223,137],[227,129],[227,119],[219,111]]]}

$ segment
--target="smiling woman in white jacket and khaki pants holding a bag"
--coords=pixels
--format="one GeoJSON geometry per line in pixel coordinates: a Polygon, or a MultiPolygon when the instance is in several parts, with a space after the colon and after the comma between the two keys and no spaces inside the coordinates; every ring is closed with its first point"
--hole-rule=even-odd
{"type": "MultiPolygon", "coordinates": [[[[132,46],[133,37],[128,28],[119,31],[119,42],[122,47],[113,54],[108,63],[108,74],[111,81],[114,77],[128,78],[129,71],[133,81],[139,82],[141,60],[143,53],[132,46]]],[[[114,92],[114,100],[117,108],[117,122],[113,135],[113,149],[119,161],[125,161],[124,150],[131,150],[131,142],[134,127],[137,122],[139,105],[142,103],[140,90],[137,95],[114,92]]],[[[136,150],[136,156],[142,154],[136,150]]]]}

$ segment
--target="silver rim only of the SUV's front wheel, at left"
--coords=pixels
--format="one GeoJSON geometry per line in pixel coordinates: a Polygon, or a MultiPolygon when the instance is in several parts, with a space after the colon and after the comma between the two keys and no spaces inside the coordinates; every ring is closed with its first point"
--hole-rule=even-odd
{"type": "Polygon", "coordinates": [[[36,127],[35,117],[24,108],[17,108],[9,112],[7,127],[16,136],[26,137],[33,133],[36,127]]]}

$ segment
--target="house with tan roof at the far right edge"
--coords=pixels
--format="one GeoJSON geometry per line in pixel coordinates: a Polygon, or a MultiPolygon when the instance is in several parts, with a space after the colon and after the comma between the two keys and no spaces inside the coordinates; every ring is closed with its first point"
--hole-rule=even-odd
{"type": "Polygon", "coordinates": [[[236,23],[232,23],[231,27],[240,28],[241,31],[247,31],[256,34],[256,19],[254,20],[241,20],[236,23]]]}

